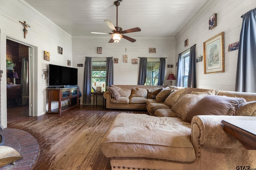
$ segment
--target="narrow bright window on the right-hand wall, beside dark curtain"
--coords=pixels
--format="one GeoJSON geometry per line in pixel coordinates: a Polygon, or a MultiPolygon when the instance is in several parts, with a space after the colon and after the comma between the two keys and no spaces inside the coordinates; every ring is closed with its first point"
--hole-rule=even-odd
{"type": "Polygon", "coordinates": [[[182,53],[182,69],[181,69],[181,75],[182,75],[182,86],[188,87],[188,69],[189,69],[189,55],[190,55],[190,49],[182,53]]]}

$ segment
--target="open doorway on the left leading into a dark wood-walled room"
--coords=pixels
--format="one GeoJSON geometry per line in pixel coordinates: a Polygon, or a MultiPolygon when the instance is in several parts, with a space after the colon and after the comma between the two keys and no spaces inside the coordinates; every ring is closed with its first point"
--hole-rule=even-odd
{"type": "Polygon", "coordinates": [[[6,62],[15,63],[13,68],[6,68],[7,124],[37,115],[33,112],[37,109],[34,109],[31,98],[34,93],[31,90],[33,49],[28,44],[6,39],[6,62]]]}

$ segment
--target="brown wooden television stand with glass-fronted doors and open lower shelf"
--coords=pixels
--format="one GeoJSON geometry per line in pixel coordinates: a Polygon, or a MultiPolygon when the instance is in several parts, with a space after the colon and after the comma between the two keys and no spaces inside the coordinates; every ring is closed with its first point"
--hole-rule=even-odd
{"type": "Polygon", "coordinates": [[[46,114],[61,114],[62,111],[66,111],[79,105],[79,87],[73,88],[47,88],[48,89],[48,111],[46,114]],[[71,99],[76,98],[76,104],[71,104],[71,99]],[[68,105],[61,106],[62,100],[69,100],[68,105]],[[51,109],[52,101],[58,101],[58,108],[51,109]]]}

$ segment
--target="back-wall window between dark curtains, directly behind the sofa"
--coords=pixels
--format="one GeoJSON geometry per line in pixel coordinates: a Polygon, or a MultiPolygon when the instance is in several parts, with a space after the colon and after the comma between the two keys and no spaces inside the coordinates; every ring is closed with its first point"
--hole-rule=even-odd
{"type": "Polygon", "coordinates": [[[157,86],[158,73],[159,73],[159,64],[160,64],[159,59],[148,59],[148,62],[147,62],[147,76],[146,76],[145,85],[155,85],[155,86],[157,86]]]}

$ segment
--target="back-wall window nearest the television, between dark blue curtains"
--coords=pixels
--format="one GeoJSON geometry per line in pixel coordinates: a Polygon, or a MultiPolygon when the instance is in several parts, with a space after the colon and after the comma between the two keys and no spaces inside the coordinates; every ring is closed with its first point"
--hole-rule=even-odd
{"type": "Polygon", "coordinates": [[[106,60],[92,60],[92,88],[106,87],[106,60]]]}

